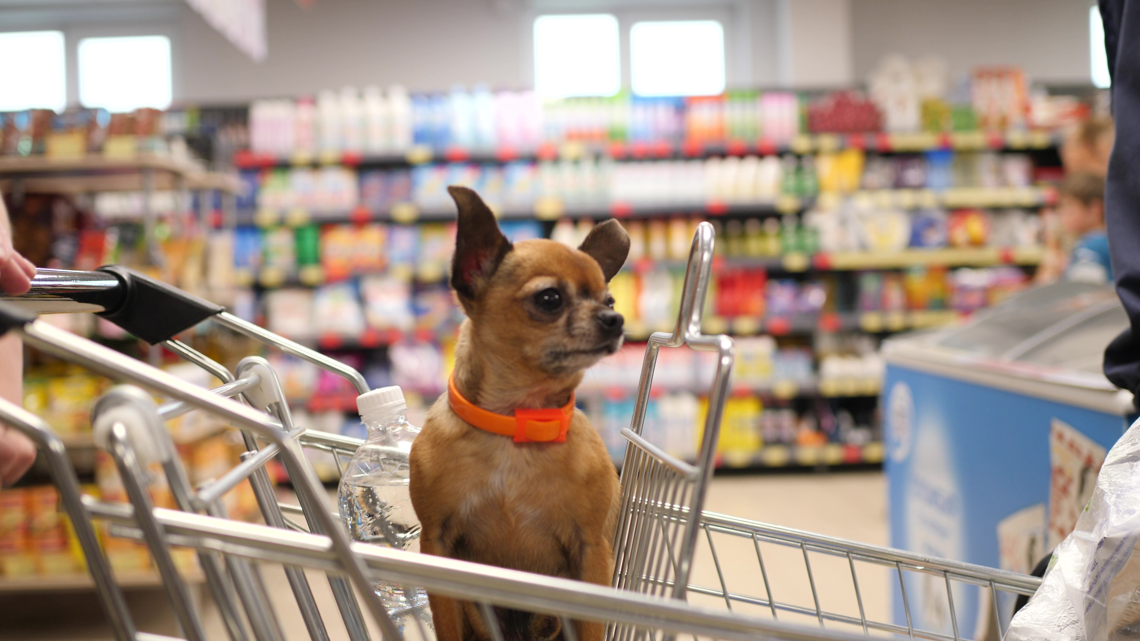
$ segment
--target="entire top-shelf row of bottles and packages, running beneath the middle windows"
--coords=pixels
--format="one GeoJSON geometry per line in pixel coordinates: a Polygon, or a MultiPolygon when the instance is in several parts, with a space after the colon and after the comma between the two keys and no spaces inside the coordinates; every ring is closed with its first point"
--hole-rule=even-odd
{"type": "MultiPolygon", "coordinates": [[[[1085,114],[1078,100],[1036,92],[1011,68],[977,70],[954,91],[945,79],[922,84],[887,65],[869,97],[848,90],[809,96],[730,90],[689,98],[613,97],[544,100],[532,91],[455,86],[446,92],[344,87],[314,97],[250,105],[250,147],[277,156],[321,152],[390,154],[413,145],[435,149],[535,149],[585,141],[764,139],[784,145],[801,132],[968,131],[1054,128],[1085,114]]],[[[943,72],[944,74],[944,72],[943,72]]]]}

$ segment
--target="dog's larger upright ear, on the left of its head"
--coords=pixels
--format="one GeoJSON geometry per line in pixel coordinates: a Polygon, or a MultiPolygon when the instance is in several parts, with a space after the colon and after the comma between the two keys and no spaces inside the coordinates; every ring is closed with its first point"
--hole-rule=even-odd
{"type": "Polygon", "coordinates": [[[512,245],[479,194],[455,186],[448,187],[447,193],[459,208],[455,255],[451,258],[451,287],[461,300],[474,300],[512,245]]]}

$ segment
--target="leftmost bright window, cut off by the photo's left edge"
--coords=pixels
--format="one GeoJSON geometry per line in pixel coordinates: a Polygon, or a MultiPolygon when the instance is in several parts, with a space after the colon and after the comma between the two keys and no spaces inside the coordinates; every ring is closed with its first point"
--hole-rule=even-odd
{"type": "Polygon", "coordinates": [[[67,106],[63,32],[0,33],[0,112],[67,106]]]}

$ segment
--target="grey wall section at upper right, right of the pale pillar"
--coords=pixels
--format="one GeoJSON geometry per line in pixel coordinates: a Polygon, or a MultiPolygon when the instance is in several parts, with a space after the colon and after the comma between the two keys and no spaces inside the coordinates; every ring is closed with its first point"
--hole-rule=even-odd
{"type": "Polygon", "coordinates": [[[1090,82],[1092,0],[850,2],[858,81],[866,80],[882,56],[898,52],[935,54],[955,75],[977,65],[1010,64],[1021,66],[1036,81],[1090,82]]]}

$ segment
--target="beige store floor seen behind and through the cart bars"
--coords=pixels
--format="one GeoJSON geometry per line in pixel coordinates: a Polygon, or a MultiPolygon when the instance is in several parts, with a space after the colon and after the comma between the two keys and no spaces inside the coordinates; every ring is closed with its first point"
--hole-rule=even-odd
{"type": "MultiPolygon", "coordinates": [[[[878,472],[717,477],[709,493],[707,509],[872,544],[883,545],[887,542],[886,487],[882,474],[878,472]]],[[[728,590],[763,597],[765,589],[751,539],[733,538],[735,537],[714,538],[728,590]]],[[[694,565],[693,582],[718,586],[719,577],[708,543],[702,541],[701,545],[694,565]]],[[[765,545],[763,554],[775,598],[811,606],[813,598],[799,549],[765,545]]],[[[811,562],[820,598],[828,601],[824,607],[842,607],[834,605],[838,600],[850,601],[854,607],[850,569],[846,560],[817,559],[813,555],[811,562]]],[[[887,573],[873,568],[860,568],[858,571],[863,607],[868,616],[886,618],[889,585],[887,573]]],[[[280,568],[267,566],[264,583],[277,605],[285,639],[308,639],[280,568]]],[[[325,624],[329,635],[333,639],[347,639],[327,581],[320,573],[310,573],[309,583],[326,615],[325,624]]],[[[140,630],[178,634],[161,591],[132,591],[128,593],[128,599],[140,630]]],[[[205,600],[203,610],[207,639],[226,639],[215,608],[209,602],[209,598],[205,600]]],[[[719,599],[697,597],[692,600],[710,608],[724,608],[724,601],[719,599]]],[[[755,616],[764,616],[766,612],[739,605],[735,608],[736,611],[755,616]]],[[[781,616],[781,619],[814,624],[814,617],[796,619],[781,616]]],[[[89,593],[0,594],[0,640],[101,641],[111,638],[98,605],[89,593]]],[[[374,628],[373,639],[380,638],[374,628]]]]}

